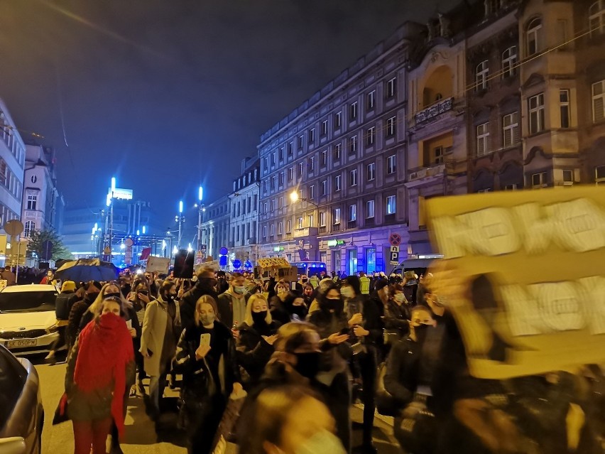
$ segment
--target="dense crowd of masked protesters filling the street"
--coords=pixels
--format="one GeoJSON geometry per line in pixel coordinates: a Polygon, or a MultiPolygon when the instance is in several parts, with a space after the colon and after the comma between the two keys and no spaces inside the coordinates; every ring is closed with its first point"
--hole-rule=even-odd
{"type": "MultiPolygon", "coordinates": [[[[53,276],[48,276],[52,279],[53,276]]],[[[209,268],[62,283],[62,409],[75,453],[120,453],[129,397],[163,430],[180,388],[189,453],[376,453],[376,411],[403,453],[603,453],[602,365],[508,380],[472,377],[433,276],[325,273],[288,282],[209,268]],[[182,379],[177,382],[177,377],[182,379]],[[143,380],[149,379],[148,384],[143,380]],[[244,404],[223,426],[229,399],[244,404]],[[352,404],[363,406],[352,446],[352,404]]],[[[49,281],[50,283],[50,281],[49,281]]]]}

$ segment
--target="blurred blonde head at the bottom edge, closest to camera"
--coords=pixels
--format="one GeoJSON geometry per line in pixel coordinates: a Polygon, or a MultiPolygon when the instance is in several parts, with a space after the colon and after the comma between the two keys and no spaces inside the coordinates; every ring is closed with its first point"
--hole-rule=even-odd
{"type": "Polygon", "coordinates": [[[240,454],[344,454],[334,418],[307,387],[266,389],[242,416],[240,454]]]}

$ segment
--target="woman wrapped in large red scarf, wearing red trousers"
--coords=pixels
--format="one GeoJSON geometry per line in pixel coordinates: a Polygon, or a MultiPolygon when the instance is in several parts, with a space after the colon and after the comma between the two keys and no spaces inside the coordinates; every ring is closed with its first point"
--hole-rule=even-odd
{"type": "Polygon", "coordinates": [[[134,354],[121,305],[116,296],[102,301],[67,360],[65,393],[75,454],[90,454],[91,448],[92,454],[106,453],[112,423],[124,433],[124,396],[134,354]]]}

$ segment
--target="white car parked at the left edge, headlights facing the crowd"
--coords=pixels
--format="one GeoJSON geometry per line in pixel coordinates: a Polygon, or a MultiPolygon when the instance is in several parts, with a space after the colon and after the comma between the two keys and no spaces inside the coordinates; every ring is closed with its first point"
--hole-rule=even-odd
{"type": "Polygon", "coordinates": [[[55,315],[57,289],[31,284],[0,291],[0,343],[14,355],[50,350],[58,339],[55,315]]]}

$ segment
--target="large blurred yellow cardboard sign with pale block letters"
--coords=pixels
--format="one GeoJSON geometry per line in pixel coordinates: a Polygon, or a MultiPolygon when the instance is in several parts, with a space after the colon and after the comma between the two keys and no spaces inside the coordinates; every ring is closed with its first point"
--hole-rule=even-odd
{"type": "Polygon", "coordinates": [[[435,198],[427,214],[453,271],[435,293],[475,377],[605,362],[605,188],[435,198]]]}

